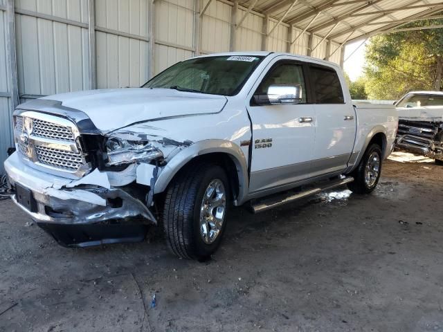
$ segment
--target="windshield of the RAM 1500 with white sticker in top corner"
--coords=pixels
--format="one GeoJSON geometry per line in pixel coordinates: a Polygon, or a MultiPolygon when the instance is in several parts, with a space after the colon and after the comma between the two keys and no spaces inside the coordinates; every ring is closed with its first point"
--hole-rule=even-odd
{"type": "Polygon", "coordinates": [[[262,59],[237,55],[189,59],[174,64],[142,87],[235,95],[262,59]]]}

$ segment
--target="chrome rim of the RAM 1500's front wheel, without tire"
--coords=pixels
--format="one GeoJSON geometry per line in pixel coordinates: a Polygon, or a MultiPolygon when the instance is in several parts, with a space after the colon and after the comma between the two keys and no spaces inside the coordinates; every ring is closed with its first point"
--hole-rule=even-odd
{"type": "Polygon", "coordinates": [[[200,235],[204,243],[217,239],[226,212],[226,191],[223,182],[216,178],[209,183],[201,202],[200,235]]]}

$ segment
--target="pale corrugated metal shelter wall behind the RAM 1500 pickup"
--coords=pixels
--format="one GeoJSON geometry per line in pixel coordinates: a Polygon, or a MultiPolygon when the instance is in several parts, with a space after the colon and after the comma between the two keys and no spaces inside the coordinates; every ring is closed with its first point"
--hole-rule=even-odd
{"type": "MultiPolygon", "coordinates": [[[[0,0],[0,173],[6,149],[12,146],[14,100],[140,86],[151,75],[197,54],[309,53],[309,33],[290,45],[301,30],[292,28],[290,33],[289,25],[248,12],[234,1],[207,4],[208,0],[0,0]],[[12,15],[6,10],[8,3],[15,6],[12,15]],[[15,43],[8,42],[8,14],[15,18],[15,43]],[[16,66],[8,58],[9,49],[16,53],[16,66]],[[16,68],[16,81],[9,68],[16,68]]],[[[312,44],[320,40],[314,36],[312,44]]],[[[327,47],[323,42],[313,55],[327,57],[327,47]]],[[[329,46],[331,52],[337,47],[329,46]]],[[[331,60],[339,63],[340,53],[331,60]]]]}

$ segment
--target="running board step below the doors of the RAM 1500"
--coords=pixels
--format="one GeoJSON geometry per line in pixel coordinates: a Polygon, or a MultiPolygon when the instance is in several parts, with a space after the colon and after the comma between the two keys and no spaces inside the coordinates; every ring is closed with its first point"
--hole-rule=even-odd
{"type": "Polygon", "coordinates": [[[286,203],[297,201],[298,199],[304,199],[305,197],[324,192],[325,190],[340,187],[341,185],[351,183],[352,181],[354,181],[354,178],[352,176],[347,176],[345,178],[338,178],[336,180],[327,181],[327,183],[322,183],[322,185],[317,185],[314,188],[310,188],[302,192],[297,192],[296,194],[292,192],[289,194],[279,194],[278,196],[274,195],[273,197],[265,198],[261,201],[257,201],[256,203],[251,204],[251,208],[254,213],[263,212],[272,208],[277,208],[278,206],[284,205],[286,203]]]}

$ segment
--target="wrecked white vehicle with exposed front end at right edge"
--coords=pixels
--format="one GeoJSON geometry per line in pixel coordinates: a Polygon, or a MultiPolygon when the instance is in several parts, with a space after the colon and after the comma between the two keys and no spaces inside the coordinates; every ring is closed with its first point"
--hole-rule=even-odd
{"type": "Polygon", "coordinates": [[[413,91],[395,105],[399,114],[397,148],[443,165],[443,92],[413,91]]]}

